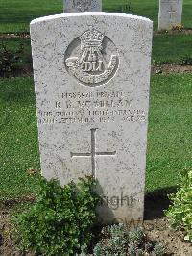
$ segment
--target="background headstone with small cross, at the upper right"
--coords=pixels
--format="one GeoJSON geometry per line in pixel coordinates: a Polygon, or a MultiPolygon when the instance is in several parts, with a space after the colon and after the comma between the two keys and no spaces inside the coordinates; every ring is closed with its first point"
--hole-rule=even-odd
{"type": "Polygon", "coordinates": [[[159,0],[158,30],[181,24],[183,0],[159,0]]]}

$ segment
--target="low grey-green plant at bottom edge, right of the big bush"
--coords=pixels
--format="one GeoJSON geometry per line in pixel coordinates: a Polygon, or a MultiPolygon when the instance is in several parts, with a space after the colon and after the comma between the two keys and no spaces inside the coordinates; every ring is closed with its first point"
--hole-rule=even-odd
{"type": "Polygon", "coordinates": [[[102,239],[93,250],[94,256],[162,256],[164,247],[147,241],[142,229],[128,231],[124,224],[106,226],[102,239]]]}

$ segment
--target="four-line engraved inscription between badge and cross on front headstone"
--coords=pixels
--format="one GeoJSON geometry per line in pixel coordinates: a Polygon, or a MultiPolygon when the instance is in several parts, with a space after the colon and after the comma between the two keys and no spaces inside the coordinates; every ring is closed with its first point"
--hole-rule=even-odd
{"type": "Polygon", "coordinates": [[[129,93],[123,91],[65,92],[58,98],[52,111],[38,111],[39,124],[146,121],[145,111],[133,107],[129,93]]]}

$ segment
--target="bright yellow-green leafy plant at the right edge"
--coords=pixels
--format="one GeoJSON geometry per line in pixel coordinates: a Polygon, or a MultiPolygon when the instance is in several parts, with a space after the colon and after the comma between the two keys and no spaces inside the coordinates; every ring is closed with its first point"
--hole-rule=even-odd
{"type": "Polygon", "coordinates": [[[165,214],[173,227],[184,228],[185,240],[192,242],[192,170],[184,169],[180,173],[179,186],[176,194],[169,195],[172,205],[165,214]]]}

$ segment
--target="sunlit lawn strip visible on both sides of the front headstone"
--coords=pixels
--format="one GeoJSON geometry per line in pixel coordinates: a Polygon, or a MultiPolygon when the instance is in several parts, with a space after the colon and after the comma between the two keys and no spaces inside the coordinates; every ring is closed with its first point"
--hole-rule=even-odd
{"type": "MultiPolygon", "coordinates": [[[[153,76],[147,158],[147,192],[175,186],[192,166],[192,76],[153,76]]],[[[0,200],[36,192],[40,169],[32,78],[0,80],[0,200]]]]}

